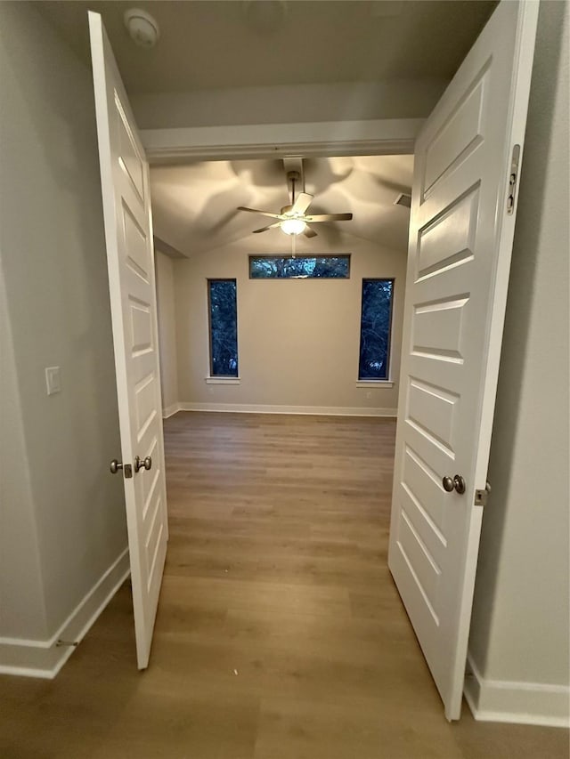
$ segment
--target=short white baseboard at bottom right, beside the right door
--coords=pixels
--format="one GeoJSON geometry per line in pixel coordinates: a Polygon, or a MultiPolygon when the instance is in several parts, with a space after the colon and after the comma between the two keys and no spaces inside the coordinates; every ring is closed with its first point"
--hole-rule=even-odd
{"type": "Polygon", "coordinates": [[[570,727],[570,688],[542,682],[487,680],[468,654],[465,698],[476,720],[570,727]]]}

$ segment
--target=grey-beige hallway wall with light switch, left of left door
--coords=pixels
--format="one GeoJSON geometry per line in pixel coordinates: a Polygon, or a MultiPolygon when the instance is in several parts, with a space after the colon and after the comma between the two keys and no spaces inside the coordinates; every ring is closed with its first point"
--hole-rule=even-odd
{"type": "MultiPolygon", "coordinates": [[[[12,337],[3,363],[20,400],[2,436],[10,446],[20,428],[22,461],[20,483],[3,470],[2,586],[12,593],[3,593],[0,636],[45,641],[126,548],[122,481],[109,472],[120,445],[93,85],[25,3],[0,4],[0,70],[0,258],[12,337]],[[61,393],[48,397],[50,366],[61,367],[61,393]]],[[[21,666],[33,659],[41,669],[28,653],[16,657],[21,666]]]]}

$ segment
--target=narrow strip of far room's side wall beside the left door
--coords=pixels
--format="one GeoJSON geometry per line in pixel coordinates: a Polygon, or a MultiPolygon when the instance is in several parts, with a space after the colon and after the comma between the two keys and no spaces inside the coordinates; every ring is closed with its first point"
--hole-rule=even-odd
{"type": "Polygon", "coordinates": [[[159,248],[155,249],[157,314],[159,319],[160,382],[165,416],[178,403],[178,359],[176,357],[175,273],[174,262],[159,248]]]}

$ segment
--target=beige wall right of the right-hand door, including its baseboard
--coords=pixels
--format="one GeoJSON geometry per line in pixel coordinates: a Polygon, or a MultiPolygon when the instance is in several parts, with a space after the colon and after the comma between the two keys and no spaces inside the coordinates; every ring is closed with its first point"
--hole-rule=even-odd
{"type": "Polygon", "coordinates": [[[541,5],[469,642],[480,711],[539,721],[570,707],[568,16],[541,5]]]}

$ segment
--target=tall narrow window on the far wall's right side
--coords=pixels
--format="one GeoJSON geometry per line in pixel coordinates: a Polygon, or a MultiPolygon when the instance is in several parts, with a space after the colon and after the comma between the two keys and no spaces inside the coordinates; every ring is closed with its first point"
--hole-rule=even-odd
{"type": "Polygon", "coordinates": [[[387,380],[394,279],[362,279],[359,380],[387,380]]]}

